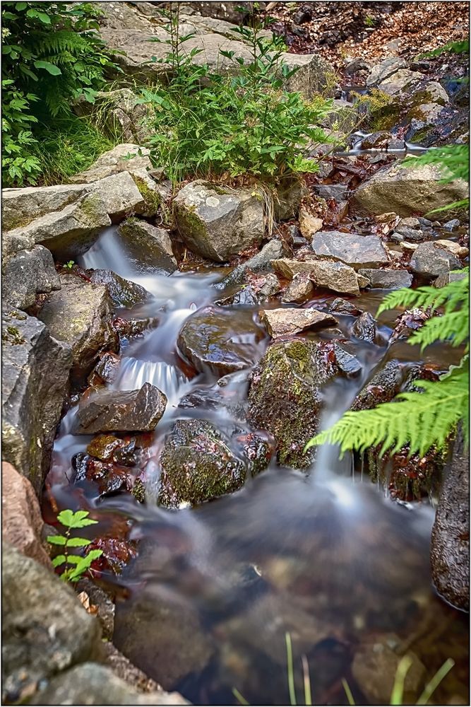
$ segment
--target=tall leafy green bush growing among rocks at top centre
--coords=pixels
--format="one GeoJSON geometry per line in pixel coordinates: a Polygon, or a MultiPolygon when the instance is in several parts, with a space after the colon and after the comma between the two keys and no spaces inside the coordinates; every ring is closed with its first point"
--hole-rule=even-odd
{"type": "Polygon", "coordinates": [[[206,64],[192,63],[199,50],[185,52],[185,42],[193,35],[179,35],[178,8],[168,20],[170,48],[159,61],[172,66],[172,76],[165,86],[143,90],[142,102],[155,109],[150,148],[170,179],[274,177],[316,170],[316,163],[306,160],[302,151],[314,141],[327,140],[316,125],[331,102],[306,101],[300,93],[282,89],[294,71],[282,63],[278,40],[268,42],[258,23],[237,28],[234,33],[246,42],[251,61],[232,51],[220,52],[237,69],[237,76],[222,76],[206,64]]]}

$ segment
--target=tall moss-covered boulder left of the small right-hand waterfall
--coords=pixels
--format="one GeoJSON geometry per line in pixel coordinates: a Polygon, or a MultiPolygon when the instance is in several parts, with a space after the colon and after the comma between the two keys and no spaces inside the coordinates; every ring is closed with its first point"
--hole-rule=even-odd
{"type": "Polygon", "coordinates": [[[338,373],[324,360],[323,347],[311,341],[272,344],[256,366],[249,390],[249,421],[266,430],[278,450],[280,464],[304,469],[312,450],[304,446],[317,431],[321,387],[338,373]]]}

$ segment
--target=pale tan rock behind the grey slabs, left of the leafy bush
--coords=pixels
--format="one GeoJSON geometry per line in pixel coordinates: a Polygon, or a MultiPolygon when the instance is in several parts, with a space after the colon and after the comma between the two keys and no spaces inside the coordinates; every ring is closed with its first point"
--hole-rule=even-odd
{"type": "MultiPolygon", "coordinates": [[[[124,90],[129,89],[121,89],[121,92],[124,90]]],[[[107,95],[109,93],[118,92],[110,91],[107,92],[107,95]]],[[[129,93],[131,93],[130,90],[129,93]]],[[[132,175],[136,170],[152,170],[153,165],[150,162],[149,155],[150,151],[139,145],[122,143],[112,148],[112,150],[102,153],[88,170],[71,177],[71,182],[73,184],[89,184],[120,172],[129,172],[132,175]]]]}

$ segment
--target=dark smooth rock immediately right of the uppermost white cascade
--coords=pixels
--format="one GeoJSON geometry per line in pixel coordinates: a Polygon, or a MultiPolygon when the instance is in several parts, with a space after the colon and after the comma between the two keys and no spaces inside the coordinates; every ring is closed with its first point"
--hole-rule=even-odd
{"type": "Polygon", "coordinates": [[[118,232],[141,264],[165,272],[177,269],[172,241],[165,228],[157,228],[139,218],[128,218],[121,223],[118,232]]]}

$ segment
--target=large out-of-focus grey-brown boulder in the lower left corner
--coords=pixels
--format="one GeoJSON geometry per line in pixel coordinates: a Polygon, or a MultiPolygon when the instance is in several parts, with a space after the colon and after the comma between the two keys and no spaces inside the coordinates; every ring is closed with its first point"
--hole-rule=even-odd
{"type": "Polygon", "coordinates": [[[2,553],[2,604],[4,703],[31,694],[59,670],[98,657],[96,617],[57,575],[8,544],[2,553]]]}

